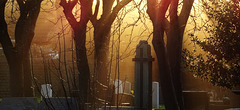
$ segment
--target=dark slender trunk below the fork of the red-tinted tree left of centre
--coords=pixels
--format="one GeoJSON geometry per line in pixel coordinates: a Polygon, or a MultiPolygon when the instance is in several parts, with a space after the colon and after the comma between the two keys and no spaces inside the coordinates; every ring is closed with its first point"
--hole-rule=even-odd
{"type": "Polygon", "coordinates": [[[80,106],[79,110],[84,110],[84,104],[90,97],[90,70],[86,53],[86,24],[74,29],[74,41],[76,47],[77,68],[79,72],[79,92],[80,106]]]}

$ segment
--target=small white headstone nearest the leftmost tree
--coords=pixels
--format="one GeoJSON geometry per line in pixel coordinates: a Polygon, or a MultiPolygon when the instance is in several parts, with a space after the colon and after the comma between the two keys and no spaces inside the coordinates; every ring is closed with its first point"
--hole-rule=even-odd
{"type": "Polygon", "coordinates": [[[41,87],[42,87],[42,89],[41,89],[42,98],[52,97],[52,85],[51,84],[42,84],[41,87]]]}

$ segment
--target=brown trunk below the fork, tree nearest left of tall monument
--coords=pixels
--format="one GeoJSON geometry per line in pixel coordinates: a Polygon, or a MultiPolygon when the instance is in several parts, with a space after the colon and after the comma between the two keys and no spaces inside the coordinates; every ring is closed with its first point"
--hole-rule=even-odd
{"type": "MultiPolygon", "coordinates": [[[[111,26],[100,26],[94,28],[94,42],[95,42],[95,68],[97,76],[97,93],[96,97],[108,101],[107,85],[108,85],[108,54],[110,42],[110,28],[111,26]]],[[[100,104],[101,105],[101,104],[100,104]]]]}

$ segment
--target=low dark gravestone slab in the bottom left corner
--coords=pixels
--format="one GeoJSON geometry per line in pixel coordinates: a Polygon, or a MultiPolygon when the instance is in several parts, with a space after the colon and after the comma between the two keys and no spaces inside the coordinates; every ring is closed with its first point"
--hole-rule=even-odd
{"type": "Polygon", "coordinates": [[[2,99],[0,103],[0,110],[36,110],[37,106],[37,98],[12,97],[2,99]]]}

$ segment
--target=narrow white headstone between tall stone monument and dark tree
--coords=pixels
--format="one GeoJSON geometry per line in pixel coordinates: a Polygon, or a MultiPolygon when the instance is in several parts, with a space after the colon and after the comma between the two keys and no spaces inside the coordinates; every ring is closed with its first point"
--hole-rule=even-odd
{"type": "Polygon", "coordinates": [[[159,108],[159,83],[152,83],[152,107],[159,108]]]}

